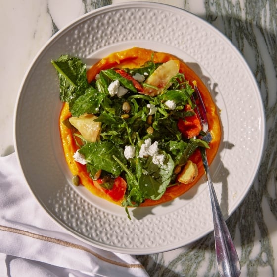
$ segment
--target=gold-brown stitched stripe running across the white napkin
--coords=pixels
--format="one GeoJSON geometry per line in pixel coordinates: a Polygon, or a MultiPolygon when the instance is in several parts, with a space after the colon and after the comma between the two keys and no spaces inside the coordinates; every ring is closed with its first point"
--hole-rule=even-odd
{"type": "Polygon", "coordinates": [[[95,253],[94,251],[90,250],[89,248],[86,248],[82,245],[75,244],[75,243],[72,243],[72,242],[68,242],[68,241],[65,241],[65,240],[61,240],[61,239],[57,239],[57,238],[53,238],[53,237],[49,237],[49,236],[45,236],[45,235],[40,235],[40,234],[32,233],[32,232],[29,232],[29,231],[24,231],[24,230],[21,230],[21,229],[7,227],[7,226],[3,226],[3,225],[0,225],[0,230],[1,231],[12,232],[12,233],[16,233],[16,234],[21,234],[21,235],[25,235],[25,236],[32,237],[32,238],[35,238],[35,239],[40,239],[40,240],[43,240],[43,241],[47,241],[47,242],[51,242],[51,243],[55,243],[55,244],[60,244],[62,246],[66,246],[66,247],[86,251],[86,252],[94,255],[98,259],[102,260],[102,261],[105,261],[107,263],[114,264],[114,265],[117,265],[117,266],[126,267],[126,268],[144,268],[140,264],[125,264],[125,263],[116,262],[116,261],[107,259],[107,258],[95,253]]]}

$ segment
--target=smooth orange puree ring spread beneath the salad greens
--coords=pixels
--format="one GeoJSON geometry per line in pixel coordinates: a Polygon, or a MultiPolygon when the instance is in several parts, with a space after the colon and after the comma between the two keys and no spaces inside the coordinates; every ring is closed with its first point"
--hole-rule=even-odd
{"type": "MultiPolygon", "coordinates": [[[[179,60],[177,57],[168,53],[154,52],[152,50],[134,47],[124,51],[112,53],[109,56],[98,61],[96,64],[94,64],[87,71],[88,82],[90,83],[92,80],[94,80],[96,75],[101,70],[109,69],[112,67],[138,68],[140,66],[143,66],[146,61],[149,61],[151,59],[155,63],[164,63],[169,60],[179,60]]],[[[179,60],[179,62],[179,72],[185,75],[185,79],[188,80],[190,84],[192,84],[192,81],[194,80],[197,82],[197,87],[201,93],[207,110],[207,119],[209,123],[209,131],[212,136],[212,140],[209,143],[210,149],[206,149],[206,152],[208,161],[209,163],[211,163],[218,151],[221,139],[220,120],[217,114],[217,108],[212,100],[209,91],[207,90],[206,86],[203,84],[201,79],[184,62],[182,62],[181,60],[179,60]]],[[[78,175],[80,178],[80,183],[84,185],[93,194],[120,205],[122,199],[116,199],[116,191],[113,191],[112,193],[114,193],[115,195],[111,196],[109,195],[108,190],[105,190],[104,193],[102,191],[103,189],[101,189],[99,185],[98,180],[93,181],[90,178],[86,170],[86,165],[82,165],[74,160],[73,155],[79,149],[79,147],[75,143],[75,139],[73,138],[73,133],[71,129],[67,128],[63,123],[64,120],[68,119],[70,116],[71,113],[69,111],[69,106],[67,103],[64,103],[59,117],[59,128],[66,162],[69,166],[71,173],[73,175],[78,175]]],[[[197,149],[194,152],[194,154],[190,156],[189,160],[194,162],[198,167],[198,175],[193,182],[189,184],[181,184],[168,187],[166,189],[166,192],[162,195],[160,199],[146,199],[142,204],[140,204],[140,206],[152,206],[173,200],[174,198],[188,191],[193,185],[195,185],[201,178],[201,176],[204,174],[200,151],[197,149]]]]}

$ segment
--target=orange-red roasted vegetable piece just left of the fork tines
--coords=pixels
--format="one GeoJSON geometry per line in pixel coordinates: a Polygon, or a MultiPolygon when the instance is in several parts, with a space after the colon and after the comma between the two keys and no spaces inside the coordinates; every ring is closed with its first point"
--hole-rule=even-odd
{"type": "MultiPolygon", "coordinates": [[[[184,110],[193,111],[190,105],[185,105],[184,110]]],[[[193,138],[194,136],[198,136],[201,131],[200,120],[197,117],[196,113],[191,116],[186,116],[185,120],[179,119],[177,126],[182,134],[187,138],[193,138]]]]}

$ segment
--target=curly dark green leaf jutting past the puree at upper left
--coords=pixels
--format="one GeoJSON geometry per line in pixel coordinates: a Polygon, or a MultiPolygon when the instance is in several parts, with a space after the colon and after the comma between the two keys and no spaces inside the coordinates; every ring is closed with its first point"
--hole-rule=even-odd
{"type": "Polygon", "coordinates": [[[89,84],[87,81],[86,64],[81,59],[62,55],[57,60],[51,60],[60,81],[60,100],[71,103],[85,93],[89,84]]]}

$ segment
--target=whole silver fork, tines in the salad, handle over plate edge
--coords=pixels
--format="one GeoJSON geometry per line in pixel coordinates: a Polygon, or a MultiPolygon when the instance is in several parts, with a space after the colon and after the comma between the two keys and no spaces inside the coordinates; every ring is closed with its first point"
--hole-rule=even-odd
{"type": "MultiPolygon", "coordinates": [[[[206,138],[204,137],[202,139],[209,141],[211,137],[209,134],[206,108],[196,83],[193,83],[193,85],[197,102],[194,97],[192,97],[192,101],[196,104],[197,113],[199,114],[201,120],[202,131],[208,133],[208,136],[205,136],[206,138]]],[[[200,152],[211,199],[218,271],[220,275],[224,277],[239,277],[241,268],[238,255],[217,200],[210,175],[206,149],[204,147],[200,147],[200,152]]]]}

